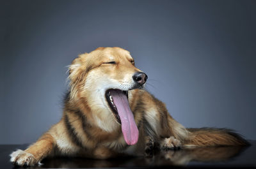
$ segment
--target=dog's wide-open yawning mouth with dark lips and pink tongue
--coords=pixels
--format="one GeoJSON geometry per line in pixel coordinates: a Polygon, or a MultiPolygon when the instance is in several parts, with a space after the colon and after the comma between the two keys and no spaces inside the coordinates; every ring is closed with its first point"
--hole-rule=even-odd
{"type": "Polygon", "coordinates": [[[138,142],[139,131],[129,106],[127,91],[109,89],[106,91],[106,99],[116,121],[122,126],[125,142],[134,145],[138,142]]]}

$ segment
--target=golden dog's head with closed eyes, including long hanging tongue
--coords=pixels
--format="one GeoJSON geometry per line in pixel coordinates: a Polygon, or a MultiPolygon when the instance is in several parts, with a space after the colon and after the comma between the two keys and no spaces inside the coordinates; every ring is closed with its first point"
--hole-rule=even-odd
{"type": "Polygon", "coordinates": [[[102,129],[111,131],[122,124],[125,141],[136,143],[138,128],[127,97],[129,90],[145,86],[147,75],[134,66],[130,53],[119,47],[100,47],[74,59],[69,73],[70,98],[85,100],[102,129]]]}

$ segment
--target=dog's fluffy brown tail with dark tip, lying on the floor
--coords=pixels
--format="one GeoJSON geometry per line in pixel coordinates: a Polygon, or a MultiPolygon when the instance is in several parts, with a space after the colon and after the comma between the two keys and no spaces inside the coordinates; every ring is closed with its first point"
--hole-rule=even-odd
{"type": "Polygon", "coordinates": [[[185,147],[189,146],[245,146],[250,145],[243,136],[232,129],[225,128],[187,128],[189,138],[185,147]]]}

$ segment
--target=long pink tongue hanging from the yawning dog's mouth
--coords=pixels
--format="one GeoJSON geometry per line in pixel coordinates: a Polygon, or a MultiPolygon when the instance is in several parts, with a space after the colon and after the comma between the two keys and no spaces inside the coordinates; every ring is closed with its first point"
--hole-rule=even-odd
{"type": "Polygon", "coordinates": [[[139,131],[134,121],[128,98],[124,92],[117,89],[111,89],[110,94],[122,123],[124,140],[128,145],[134,145],[138,142],[139,131]]]}

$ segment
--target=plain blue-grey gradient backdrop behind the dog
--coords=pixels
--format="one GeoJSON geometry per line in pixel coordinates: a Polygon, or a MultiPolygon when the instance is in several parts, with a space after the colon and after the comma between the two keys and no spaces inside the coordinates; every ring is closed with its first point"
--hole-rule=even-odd
{"type": "Polygon", "coordinates": [[[118,46],[186,127],[256,139],[256,1],[2,1],[0,143],[61,118],[67,66],[118,46]]]}

